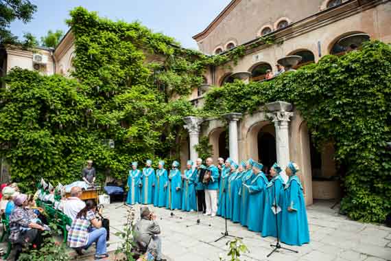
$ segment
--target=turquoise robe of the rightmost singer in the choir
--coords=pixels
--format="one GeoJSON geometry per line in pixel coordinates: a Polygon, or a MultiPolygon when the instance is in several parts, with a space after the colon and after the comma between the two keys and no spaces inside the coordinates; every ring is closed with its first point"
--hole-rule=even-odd
{"type": "Polygon", "coordinates": [[[289,177],[281,199],[281,242],[295,246],[309,243],[303,186],[296,175],[289,177]],[[291,207],[294,211],[288,212],[288,207],[291,207]]]}

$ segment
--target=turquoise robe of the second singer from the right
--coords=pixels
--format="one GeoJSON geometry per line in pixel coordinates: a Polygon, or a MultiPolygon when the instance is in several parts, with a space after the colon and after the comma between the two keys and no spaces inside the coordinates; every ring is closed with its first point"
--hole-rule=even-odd
{"type": "Polygon", "coordinates": [[[284,180],[280,175],[274,177],[266,187],[265,194],[265,211],[263,212],[263,225],[262,225],[262,236],[274,236],[277,237],[276,229],[276,212],[277,207],[277,224],[279,226],[279,235],[281,235],[281,208],[280,198],[284,189],[284,180]],[[274,190],[276,193],[276,200],[274,201],[274,190]]]}

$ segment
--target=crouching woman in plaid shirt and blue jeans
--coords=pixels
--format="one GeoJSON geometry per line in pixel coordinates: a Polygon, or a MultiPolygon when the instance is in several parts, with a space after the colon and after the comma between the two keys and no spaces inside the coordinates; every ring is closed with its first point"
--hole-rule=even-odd
{"type": "Polygon", "coordinates": [[[96,242],[95,260],[107,258],[107,231],[102,227],[102,220],[95,216],[97,204],[93,200],[86,201],[86,206],[76,215],[68,233],[68,246],[81,255],[82,249],[88,249],[96,242]]]}

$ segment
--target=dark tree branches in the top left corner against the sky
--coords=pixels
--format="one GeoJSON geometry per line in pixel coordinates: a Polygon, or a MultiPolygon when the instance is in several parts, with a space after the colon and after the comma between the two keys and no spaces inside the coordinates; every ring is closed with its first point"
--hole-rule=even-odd
{"type": "Polygon", "coordinates": [[[0,44],[17,43],[17,37],[8,30],[10,24],[31,21],[36,8],[29,0],[0,0],[0,44]]]}

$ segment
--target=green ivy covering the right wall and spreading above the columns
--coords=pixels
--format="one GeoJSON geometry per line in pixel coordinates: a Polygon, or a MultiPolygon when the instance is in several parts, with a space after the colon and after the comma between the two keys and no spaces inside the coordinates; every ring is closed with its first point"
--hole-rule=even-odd
{"type": "Polygon", "coordinates": [[[379,41],[345,56],[268,82],[234,82],[206,94],[204,113],[246,113],[267,102],[292,102],[313,141],[332,141],[335,160],[346,166],[342,212],[355,220],[382,222],[391,212],[391,47],[379,41]],[[240,102],[237,102],[240,101],[240,102]]]}

